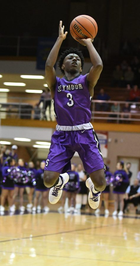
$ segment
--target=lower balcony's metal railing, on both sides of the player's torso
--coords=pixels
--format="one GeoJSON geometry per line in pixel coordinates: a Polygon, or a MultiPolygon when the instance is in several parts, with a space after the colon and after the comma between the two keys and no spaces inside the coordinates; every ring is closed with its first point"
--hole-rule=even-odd
{"type": "MultiPolygon", "coordinates": [[[[32,103],[31,98],[8,97],[8,102],[0,102],[0,118],[55,121],[53,104],[51,104],[51,109],[44,110],[43,102],[40,103],[40,106],[36,105],[37,102],[38,98],[36,97],[32,98],[32,103]]],[[[140,122],[140,102],[92,100],[91,113],[92,121],[137,123],[140,122]],[[125,105],[128,105],[128,112],[123,111],[125,105]],[[112,106],[115,106],[115,112],[111,111],[112,106]]]]}

